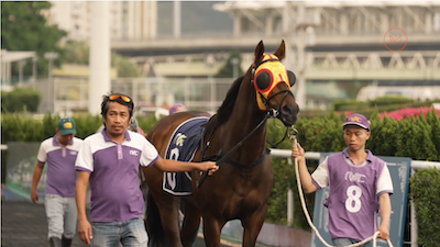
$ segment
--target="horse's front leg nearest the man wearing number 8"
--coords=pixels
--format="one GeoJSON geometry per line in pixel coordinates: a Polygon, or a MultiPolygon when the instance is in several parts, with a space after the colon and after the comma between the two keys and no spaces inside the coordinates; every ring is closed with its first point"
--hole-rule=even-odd
{"type": "Polygon", "coordinates": [[[258,237],[260,231],[263,226],[266,217],[266,206],[260,209],[251,216],[242,220],[243,224],[243,247],[254,247],[256,238],[258,237]]]}

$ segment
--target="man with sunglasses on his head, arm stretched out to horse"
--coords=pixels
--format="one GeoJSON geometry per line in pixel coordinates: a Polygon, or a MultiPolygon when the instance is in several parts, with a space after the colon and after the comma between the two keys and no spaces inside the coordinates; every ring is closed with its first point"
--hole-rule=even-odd
{"type": "Polygon", "coordinates": [[[76,160],[78,235],[94,247],[116,247],[118,243],[130,247],[147,245],[139,165],[155,165],[164,171],[210,170],[210,175],[218,169],[211,161],[163,159],[144,136],[127,130],[133,108],[128,96],[103,96],[101,115],[105,128],[84,141],[76,160]],[[85,209],[89,181],[91,224],[85,209]]]}

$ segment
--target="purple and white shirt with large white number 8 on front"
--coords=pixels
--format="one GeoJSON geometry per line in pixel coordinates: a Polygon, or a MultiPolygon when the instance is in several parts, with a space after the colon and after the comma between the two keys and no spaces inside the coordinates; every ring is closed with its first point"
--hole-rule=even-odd
{"type": "Polygon", "coordinates": [[[312,173],[318,189],[329,186],[324,205],[329,210],[329,233],[332,238],[363,240],[377,228],[378,197],[393,193],[393,182],[384,160],[370,150],[355,166],[346,149],[330,155],[312,173]]]}

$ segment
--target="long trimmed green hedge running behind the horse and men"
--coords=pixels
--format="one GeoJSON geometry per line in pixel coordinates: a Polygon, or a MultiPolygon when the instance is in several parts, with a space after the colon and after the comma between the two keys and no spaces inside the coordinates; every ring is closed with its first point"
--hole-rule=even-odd
{"type": "MultiPolygon", "coordinates": [[[[375,155],[410,157],[418,160],[440,160],[440,117],[433,111],[427,117],[405,119],[394,121],[391,117],[378,117],[377,111],[366,115],[371,120],[372,134],[366,148],[375,155]]],[[[35,120],[24,114],[2,114],[2,143],[8,142],[41,142],[53,136],[59,116],[46,114],[42,120],[35,120]]],[[[78,137],[85,138],[96,132],[101,125],[100,116],[81,115],[74,117],[77,123],[78,137]]],[[[298,130],[297,139],[306,151],[340,151],[345,147],[341,125],[344,116],[330,113],[320,117],[300,117],[295,127],[298,130]]],[[[138,117],[139,125],[147,132],[156,122],[154,117],[138,117]]],[[[279,121],[270,120],[267,123],[267,138],[275,143],[284,136],[284,128],[278,128],[279,121]]],[[[277,148],[290,149],[292,143],[285,139],[277,148]]],[[[297,193],[294,166],[287,159],[272,157],[274,168],[274,188],[271,193],[266,221],[276,224],[287,224],[287,191],[294,191],[294,227],[309,229],[305,220],[297,193]]],[[[308,161],[309,170],[316,169],[317,161],[308,161]]],[[[433,233],[439,233],[440,205],[440,173],[436,170],[419,170],[411,179],[410,191],[415,198],[417,217],[419,220],[420,243],[426,246],[433,233]],[[425,179],[425,178],[430,178],[425,179]],[[437,183],[436,183],[437,181],[437,183]],[[428,189],[429,188],[429,189],[428,189]],[[430,198],[425,194],[432,195],[430,198]],[[426,203],[429,200],[430,203],[426,203]],[[437,220],[430,212],[437,212],[437,220]],[[427,227],[424,224],[428,224],[427,227]],[[437,232],[431,232],[437,229],[437,232]]],[[[314,194],[306,197],[308,209],[312,214],[314,194]]],[[[438,238],[437,238],[438,239],[438,238]]],[[[437,240],[436,243],[440,243],[437,240]]]]}

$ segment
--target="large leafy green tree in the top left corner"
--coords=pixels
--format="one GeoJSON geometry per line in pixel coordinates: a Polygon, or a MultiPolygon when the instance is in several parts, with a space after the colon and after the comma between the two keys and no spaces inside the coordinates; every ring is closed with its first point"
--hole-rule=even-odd
{"type": "MultiPolygon", "coordinates": [[[[8,50],[36,52],[37,75],[47,76],[47,60],[44,53],[63,54],[58,42],[67,33],[57,25],[47,24],[42,12],[51,8],[50,2],[2,2],[1,3],[1,48],[8,50]]],[[[32,64],[32,63],[28,63],[32,64]]],[[[59,60],[54,61],[59,66],[59,60]]],[[[12,72],[16,75],[18,66],[13,64],[12,72]]],[[[31,75],[32,66],[24,67],[24,74],[31,75]]]]}

